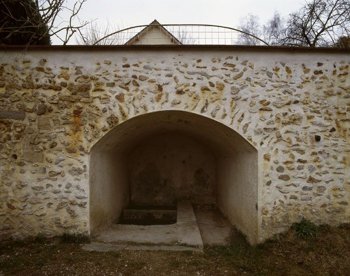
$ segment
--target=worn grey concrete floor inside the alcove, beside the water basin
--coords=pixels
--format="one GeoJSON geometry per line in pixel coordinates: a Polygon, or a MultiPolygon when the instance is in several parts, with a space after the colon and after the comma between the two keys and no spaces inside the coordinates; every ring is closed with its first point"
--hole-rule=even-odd
{"type": "Polygon", "coordinates": [[[101,231],[89,251],[173,250],[202,251],[206,245],[227,245],[233,227],[213,206],[177,205],[177,221],[168,225],[113,224],[101,231]]]}

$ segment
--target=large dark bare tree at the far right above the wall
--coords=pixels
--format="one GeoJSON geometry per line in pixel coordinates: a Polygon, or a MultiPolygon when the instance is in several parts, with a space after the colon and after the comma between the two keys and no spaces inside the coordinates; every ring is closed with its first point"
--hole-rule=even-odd
{"type": "Polygon", "coordinates": [[[312,0],[289,15],[283,45],[333,46],[349,32],[349,0],[312,0]]]}

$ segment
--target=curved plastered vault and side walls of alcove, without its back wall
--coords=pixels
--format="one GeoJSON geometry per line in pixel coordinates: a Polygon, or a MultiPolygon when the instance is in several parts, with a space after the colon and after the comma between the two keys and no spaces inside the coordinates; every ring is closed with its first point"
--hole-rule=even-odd
{"type": "MultiPolygon", "coordinates": [[[[128,204],[130,178],[127,156],[130,152],[135,147],[142,147],[147,139],[166,133],[186,136],[186,139],[192,139],[191,145],[196,143],[214,154],[217,205],[249,242],[256,243],[257,150],[231,127],[181,110],[155,111],[130,118],[106,133],[91,148],[90,231],[115,221],[128,204]]],[[[206,179],[206,176],[201,176],[200,169],[195,173],[198,179],[206,179]]]]}

